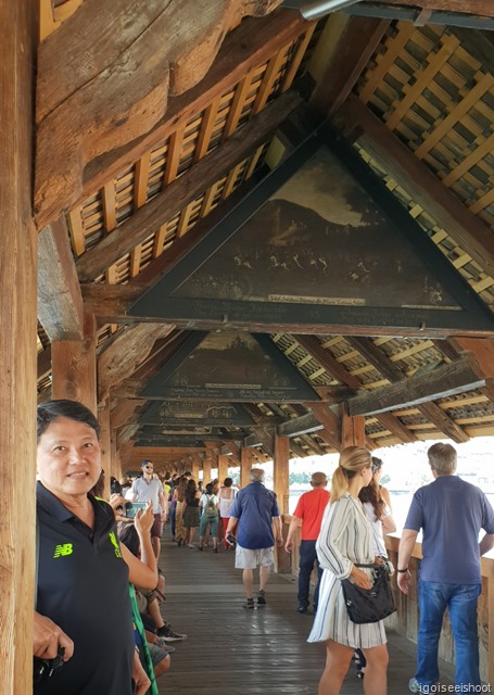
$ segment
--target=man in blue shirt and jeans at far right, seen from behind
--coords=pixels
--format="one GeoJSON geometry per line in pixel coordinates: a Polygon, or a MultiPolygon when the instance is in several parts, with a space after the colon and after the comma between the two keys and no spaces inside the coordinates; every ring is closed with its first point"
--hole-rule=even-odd
{"type": "Polygon", "coordinates": [[[420,622],[413,693],[439,680],[438,645],[446,608],[455,639],[456,686],[481,685],[477,602],[482,590],[480,557],[494,546],[494,510],[484,493],[456,472],[456,450],[434,444],[427,453],[434,482],[417,490],[400,542],[397,584],[408,593],[408,561],[422,529],[418,583],[420,622]],[[485,535],[479,544],[479,533],[485,535]]]}

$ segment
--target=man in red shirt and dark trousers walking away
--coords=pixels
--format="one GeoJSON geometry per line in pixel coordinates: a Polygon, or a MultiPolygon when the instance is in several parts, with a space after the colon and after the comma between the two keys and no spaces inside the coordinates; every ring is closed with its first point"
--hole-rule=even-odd
{"type": "Polygon", "coordinates": [[[313,473],[311,485],[313,490],[305,492],[296,505],[293,513],[290,528],[288,530],[284,549],[290,553],[293,549],[293,536],[295,530],[302,523],[300,563],[299,563],[299,612],[307,612],[309,604],[311,574],[314,563],[317,565],[317,584],[314,591],[314,612],[317,610],[317,599],[319,596],[319,582],[322,570],[319,566],[316,553],[316,541],[319,535],[322,515],[329,502],[329,492],[326,490],[328,479],[325,473],[313,473]]]}

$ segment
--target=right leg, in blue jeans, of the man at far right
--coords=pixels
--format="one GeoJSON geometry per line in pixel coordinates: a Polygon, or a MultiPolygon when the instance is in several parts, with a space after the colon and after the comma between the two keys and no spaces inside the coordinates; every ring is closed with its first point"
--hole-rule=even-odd
{"type": "Polygon", "coordinates": [[[448,602],[449,622],[455,640],[455,685],[481,685],[477,602],[481,584],[457,584],[448,602]]]}

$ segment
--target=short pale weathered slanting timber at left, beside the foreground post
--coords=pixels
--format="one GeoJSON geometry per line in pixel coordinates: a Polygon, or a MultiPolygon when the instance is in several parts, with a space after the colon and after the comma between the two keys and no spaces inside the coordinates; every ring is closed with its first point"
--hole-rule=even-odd
{"type": "Polygon", "coordinates": [[[38,318],[53,340],[84,339],[84,304],[65,218],[38,235],[38,318]]]}

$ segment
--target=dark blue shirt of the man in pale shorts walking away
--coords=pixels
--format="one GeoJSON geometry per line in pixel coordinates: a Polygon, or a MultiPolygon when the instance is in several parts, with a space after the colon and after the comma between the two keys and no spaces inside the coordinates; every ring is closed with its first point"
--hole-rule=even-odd
{"type": "Polygon", "coordinates": [[[273,547],[273,517],[279,517],[278,503],[271,490],[254,481],[239,490],[230,515],[239,520],[237,542],[251,551],[273,547]]]}

